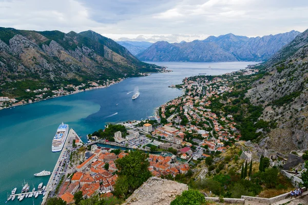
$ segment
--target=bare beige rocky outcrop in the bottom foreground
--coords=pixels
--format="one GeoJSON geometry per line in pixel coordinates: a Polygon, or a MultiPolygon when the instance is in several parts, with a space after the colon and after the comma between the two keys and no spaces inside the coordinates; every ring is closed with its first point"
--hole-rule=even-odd
{"type": "Polygon", "coordinates": [[[125,205],[169,205],[188,185],[151,177],[126,200],[125,205]]]}

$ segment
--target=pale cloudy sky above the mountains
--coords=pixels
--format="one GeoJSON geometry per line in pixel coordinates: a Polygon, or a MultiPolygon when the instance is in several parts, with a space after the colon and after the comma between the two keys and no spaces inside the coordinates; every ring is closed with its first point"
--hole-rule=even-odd
{"type": "Polygon", "coordinates": [[[308,28],[307,0],[0,0],[0,26],[93,30],[114,40],[193,41],[308,28]]]}

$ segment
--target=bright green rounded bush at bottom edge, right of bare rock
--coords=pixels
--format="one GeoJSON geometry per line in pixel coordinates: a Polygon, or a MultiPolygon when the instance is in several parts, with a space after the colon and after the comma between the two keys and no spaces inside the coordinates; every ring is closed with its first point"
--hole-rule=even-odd
{"type": "Polygon", "coordinates": [[[173,201],[170,205],[202,205],[206,204],[204,195],[198,190],[184,191],[180,196],[173,201]]]}

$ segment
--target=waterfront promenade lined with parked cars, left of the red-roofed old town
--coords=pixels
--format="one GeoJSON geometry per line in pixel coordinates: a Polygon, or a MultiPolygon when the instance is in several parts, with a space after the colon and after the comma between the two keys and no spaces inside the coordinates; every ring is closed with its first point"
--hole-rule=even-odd
{"type": "Polygon", "coordinates": [[[66,142],[65,142],[65,144],[63,146],[63,149],[61,151],[61,154],[59,156],[59,159],[57,160],[57,162],[56,162],[56,164],[54,166],[54,169],[52,171],[52,174],[50,175],[49,181],[48,181],[48,183],[46,185],[47,193],[43,197],[42,205],[46,203],[48,197],[53,197],[54,196],[55,189],[56,189],[57,185],[59,184],[63,174],[65,174],[65,172],[66,172],[67,165],[69,163],[68,151],[72,148],[72,142],[73,142],[73,139],[75,139],[75,135],[77,135],[77,134],[71,128],[69,133],[68,133],[66,142]],[[63,160],[66,160],[65,163],[63,162],[63,160]],[[63,164],[62,164],[63,172],[60,170],[61,169],[61,166],[60,166],[61,162],[63,162],[63,164]],[[57,171],[58,169],[59,169],[59,171],[57,171]],[[56,180],[56,182],[54,182],[54,179],[56,180]]]}

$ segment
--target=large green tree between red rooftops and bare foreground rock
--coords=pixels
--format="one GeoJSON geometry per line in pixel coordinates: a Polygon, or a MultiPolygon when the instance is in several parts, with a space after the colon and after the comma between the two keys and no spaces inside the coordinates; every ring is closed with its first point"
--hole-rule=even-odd
{"type": "Polygon", "coordinates": [[[149,155],[141,151],[130,152],[129,155],[115,160],[119,170],[119,178],[115,183],[114,193],[119,197],[126,197],[140,187],[152,175],[148,170],[149,155]],[[121,183],[125,182],[124,185],[121,183]]]}

